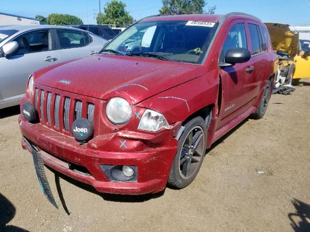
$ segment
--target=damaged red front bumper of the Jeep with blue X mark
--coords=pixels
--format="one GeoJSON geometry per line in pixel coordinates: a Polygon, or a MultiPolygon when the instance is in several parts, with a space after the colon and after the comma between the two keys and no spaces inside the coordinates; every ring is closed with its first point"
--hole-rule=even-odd
{"type": "Polygon", "coordinates": [[[26,140],[37,148],[45,165],[100,192],[138,195],[163,190],[178,149],[172,135],[180,124],[154,134],[119,131],[79,144],[40,123],[31,124],[21,117],[18,122],[24,149],[31,152],[26,140]],[[123,165],[135,167],[135,178],[119,181],[107,173],[123,165]]]}

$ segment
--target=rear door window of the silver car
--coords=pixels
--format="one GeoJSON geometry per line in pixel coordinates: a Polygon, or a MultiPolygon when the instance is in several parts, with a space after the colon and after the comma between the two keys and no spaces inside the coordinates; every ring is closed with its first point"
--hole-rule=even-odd
{"type": "Polygon", "coordinates": [[[81,31],[57,30],[60,48],[72,48],[85,46],[84,36],[81,31]]]}

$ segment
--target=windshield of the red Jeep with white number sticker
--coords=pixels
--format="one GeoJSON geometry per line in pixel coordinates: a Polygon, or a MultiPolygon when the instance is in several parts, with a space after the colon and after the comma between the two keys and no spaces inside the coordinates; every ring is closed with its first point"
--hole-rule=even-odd
{"type": "Polygon", "coordinates": [[[141,22],[124,30],[105,50],[201,64],[216,29],[217,23],[204,21],[141,22]]]}

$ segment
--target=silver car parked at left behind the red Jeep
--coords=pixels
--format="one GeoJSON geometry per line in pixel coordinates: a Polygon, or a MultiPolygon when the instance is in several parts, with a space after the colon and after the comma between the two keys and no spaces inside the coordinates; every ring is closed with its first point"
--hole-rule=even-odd
{"type": "Polygon", "coordinates": [[[0,27],[0,109],[19,104],[33,71],[96,54],[107,42],[89,31],[61,26],[0,27]]]}

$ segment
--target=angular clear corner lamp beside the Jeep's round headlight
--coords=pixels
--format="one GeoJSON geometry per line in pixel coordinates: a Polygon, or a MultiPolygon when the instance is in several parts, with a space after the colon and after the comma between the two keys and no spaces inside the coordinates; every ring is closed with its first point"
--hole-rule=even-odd
{"type": "Polygon", "coordinates": [[[143,131],[159,131],[162,128],[169,128],[166,118],[153,110],[145,110],[138,126],[143,131]]]}

